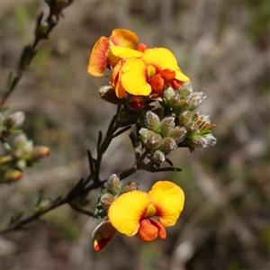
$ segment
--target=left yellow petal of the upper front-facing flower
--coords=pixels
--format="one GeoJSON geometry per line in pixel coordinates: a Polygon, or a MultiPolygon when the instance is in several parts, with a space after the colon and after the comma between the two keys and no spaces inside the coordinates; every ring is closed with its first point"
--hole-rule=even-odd
{"type": "Polygon", "coordinates": [[[121,85],[134,95],[149,95],[152,91],[147,82],[148,68],[140,58],[128,58],[121,69],[121,85]]]}

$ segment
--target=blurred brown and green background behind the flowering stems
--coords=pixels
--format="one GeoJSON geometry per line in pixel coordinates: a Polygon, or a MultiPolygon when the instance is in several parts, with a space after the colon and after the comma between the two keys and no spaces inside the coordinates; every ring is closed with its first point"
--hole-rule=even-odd
{"type": "MultiPolygon", "coordinates": [[[[117,235],[94,254],[99,220],[61,206],[2,238],[1,269],[269,269],[269,9],[263,0],[77,0],[64,10],[6,103],[26,113],[28,137],[52,153],[20,182],[1,187],[3,222],[20,210],[30,214],[38,191],[55,199],[88,174],[86,149],[94,153],[115,106],[96,93],[108,79],[89,76],[86,65],[94,42],[114,28],[173,51],[194,90],[207,94],[199,111],[216,123],[218,144],[176,150],[171,159],[181,173],[127,179],[145,190],[159,179],[183,187],[184,212],[166,240],[117,235]]],[[[2,84],[33,40],[40,11],[48,14],[42,1],[1,1],[2,84]]],[[[103,178],[132,165],[127,135],[105,155],[103,178]]],[[[89,198],[94,206],[96,193],[89,198]]]]}

